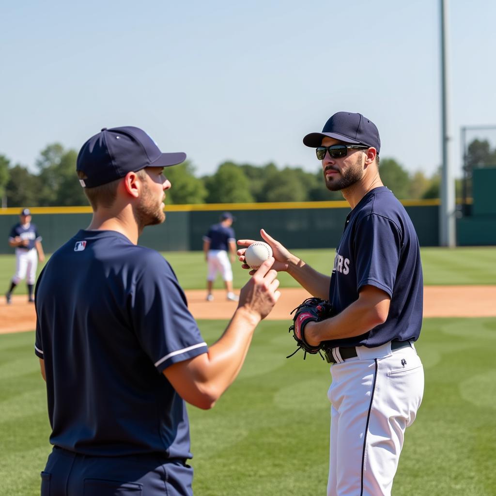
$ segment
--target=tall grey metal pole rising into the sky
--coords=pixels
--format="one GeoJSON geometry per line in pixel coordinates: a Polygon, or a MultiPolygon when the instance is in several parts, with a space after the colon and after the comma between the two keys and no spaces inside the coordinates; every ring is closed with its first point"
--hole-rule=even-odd
{"type": "Polygon", "coordinates": [[[455,180],[449,162],[450,136],[448,129],[448,70],[447,70],[447,3],[440,0],[441,18],[441,133],[442,133],[442,171],[441,204],[439,207],[439,242],[444,247],[456,245],[455,235],[455,180]]]}

